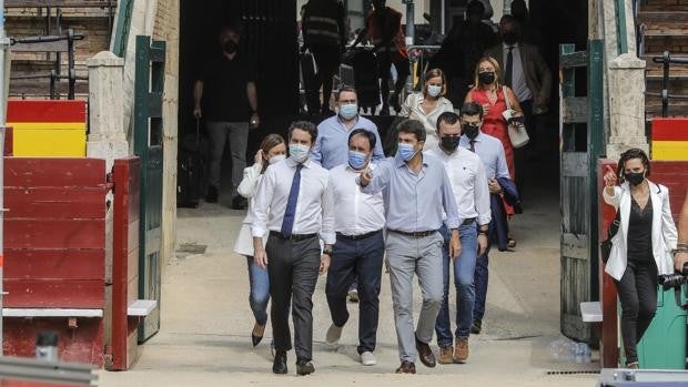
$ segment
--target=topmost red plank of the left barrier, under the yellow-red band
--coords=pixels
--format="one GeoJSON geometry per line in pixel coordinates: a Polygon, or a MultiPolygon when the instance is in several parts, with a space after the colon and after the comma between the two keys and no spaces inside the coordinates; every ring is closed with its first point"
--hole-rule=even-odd
{"type": "Polygon", "coordinates": [[[4,186],[105,186],[105,161],[69,157],[4,157],[4,186]]]}

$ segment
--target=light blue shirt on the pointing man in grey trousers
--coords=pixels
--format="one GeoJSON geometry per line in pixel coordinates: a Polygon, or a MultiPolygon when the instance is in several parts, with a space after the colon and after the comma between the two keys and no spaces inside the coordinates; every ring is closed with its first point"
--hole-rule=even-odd
{"type": "Polygon", "coordinates": [[[387,230],[439,230],[445,213],[447,227],[458,228],[456,200],[442,161],[424,154],[423,167],[415,174],[401,157],[389,157],[372,173],[373,180],[361,190],[367,194],[382,191],[387,230]]]}

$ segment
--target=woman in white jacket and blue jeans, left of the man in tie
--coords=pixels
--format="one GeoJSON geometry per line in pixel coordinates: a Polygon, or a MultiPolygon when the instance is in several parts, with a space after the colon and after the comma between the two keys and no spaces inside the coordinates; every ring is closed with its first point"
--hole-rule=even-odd
{"type": "MultiPolygon", "coordinates": [[[[267,324],[270,281],[267,279],[267,272],[255,265],[253,259],[253,236],[251,235],[253,196],[267,166],[284,159],[286,159],[286,142],[279,134],[269,134],[261,143],[261,149],[255,154],[253,165],[244,170],[244,179],[236,189],[240,195],[249,200],[249,211],[236,237],[234,252],[244,255],[249,265],[249,283],[251,286],[249,304],[255,317],[255,324],[251,332],[251,340],[254,347],[263,339],[265,324],[267,324]]],[[[266,237],[263,238],[263,241],[266,240],[266,237]]]]}

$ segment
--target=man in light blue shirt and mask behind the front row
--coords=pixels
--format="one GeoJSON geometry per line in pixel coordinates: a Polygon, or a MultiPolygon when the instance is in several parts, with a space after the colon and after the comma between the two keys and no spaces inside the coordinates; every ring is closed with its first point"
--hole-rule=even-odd
{"type": "Polygon", "coordinates": [[[354,129],[365,129],[375,134],[372,161],[385,159],[382,141],[375,124],[358,115],[358,99],[354,88],[344,86],[336,94],[337,114],[317,125],[317,140],[311,152],[311,160],[320,163],[324,169],[332,170],[348,161],[348,135],[354,129]]]}

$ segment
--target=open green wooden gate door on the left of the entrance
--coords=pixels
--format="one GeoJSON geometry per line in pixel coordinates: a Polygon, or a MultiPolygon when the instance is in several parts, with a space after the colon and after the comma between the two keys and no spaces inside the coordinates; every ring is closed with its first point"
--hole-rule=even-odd
{"type": "Polygon", "coordinates": [[[165,42],[151,44],[150,37],[136,37],[134,149],[141,157],[139,298],[158,301],[158,307],[140,325],[139,342],[160,329],[164,63],[165,42]]]}

